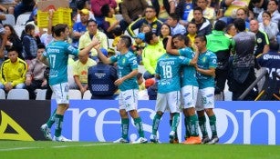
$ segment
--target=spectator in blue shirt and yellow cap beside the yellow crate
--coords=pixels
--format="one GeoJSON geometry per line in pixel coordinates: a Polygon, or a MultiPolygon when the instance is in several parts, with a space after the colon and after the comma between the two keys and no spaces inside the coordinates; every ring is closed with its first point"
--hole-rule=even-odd
{"type": "Polygon", "coordinates": [[[76,22],[73,25],[73,36],[72,36],[72,45],[78,47],[78,40],[81,35],[84,35],[87,32],[87,23],[88,23],[89,11],[88,9],[82,9],[80,11],[80,22],[76,22]]]}

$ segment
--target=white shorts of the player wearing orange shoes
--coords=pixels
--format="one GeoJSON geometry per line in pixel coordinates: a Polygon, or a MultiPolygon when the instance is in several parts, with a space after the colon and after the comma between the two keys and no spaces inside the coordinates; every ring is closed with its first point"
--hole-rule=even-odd
{"type": "Polygon", "coordinates": [[[181,88],[181,105],[183,109],[195,107],[198,86],[185,85],[181,88]]]}

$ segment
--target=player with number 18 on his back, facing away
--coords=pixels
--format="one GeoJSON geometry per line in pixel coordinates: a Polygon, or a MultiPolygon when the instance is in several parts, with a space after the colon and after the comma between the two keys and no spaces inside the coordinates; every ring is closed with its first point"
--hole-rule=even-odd
{"type": "MultiPolygon", "coordinates": [[[[181,37],[184,36],[181,35],[181,37]]],[[[169,36],[169,45],[171,45],[171,36],[169,36]]],[[[152,121],[152,134],[150,135],[150,141],[153,143],[158,143],[158,127],[161,121],[161,116],[167,108],[170,110],[172,118],[170,143],[173,143],[175,140],[175,133],[180,121],[181,65],[196,65],[195,58],[192,59],[192,56],[190,57],[191,58],[186,58],[184,56],[164,54],[161,55],[158,60],[156,67],[156,78],[159,79],[159,82],[156,114],[152,121]]]]}

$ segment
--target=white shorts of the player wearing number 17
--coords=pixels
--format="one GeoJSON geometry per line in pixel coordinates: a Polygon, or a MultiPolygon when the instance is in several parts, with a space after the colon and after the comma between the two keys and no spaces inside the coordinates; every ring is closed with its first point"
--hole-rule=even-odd
{"type": "Polygon", "coordinates": [[[50,88],[53,90],[56,96],[57,104],[69,104],[68,83],[50,85],[50,88]]]}

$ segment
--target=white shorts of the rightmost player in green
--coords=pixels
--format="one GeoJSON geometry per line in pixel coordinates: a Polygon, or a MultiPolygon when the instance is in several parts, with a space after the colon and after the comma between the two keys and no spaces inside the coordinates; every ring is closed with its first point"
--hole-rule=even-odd
{"type": "Polygon", "coordinates": [[[207,108],[214,108],[214,87],[207,87],[198,90],[196,111],[202,111],[207,108]]]}

